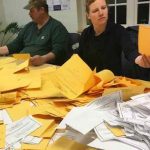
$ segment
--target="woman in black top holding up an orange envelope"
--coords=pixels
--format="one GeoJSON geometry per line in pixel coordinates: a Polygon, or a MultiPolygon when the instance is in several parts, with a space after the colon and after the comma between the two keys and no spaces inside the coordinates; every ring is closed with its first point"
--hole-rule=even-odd
{"type": "Polygon", "coordinates": [[[123,75],[122,51],[130,62],[150,68],[150,56],[139,55],[125,28],[109,21],[106,0],[87,0],[86,12],[92,25],[81,35],[79,55],[91,69],[123,75]]]}

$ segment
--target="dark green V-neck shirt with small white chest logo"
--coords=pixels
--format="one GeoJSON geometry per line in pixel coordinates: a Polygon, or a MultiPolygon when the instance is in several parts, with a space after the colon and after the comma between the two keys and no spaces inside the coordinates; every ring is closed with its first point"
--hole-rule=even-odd
{"type": "Polygon", "coordinates": [[[54,18],[41,28],[35,22],[30,22],[19,32],[17,38],[7,45],[9,54],[30,53],[45,55],[53,52],[56,56],[55,64],[64,63],[69,50],[69,34],[61,22],[54,18]]]}

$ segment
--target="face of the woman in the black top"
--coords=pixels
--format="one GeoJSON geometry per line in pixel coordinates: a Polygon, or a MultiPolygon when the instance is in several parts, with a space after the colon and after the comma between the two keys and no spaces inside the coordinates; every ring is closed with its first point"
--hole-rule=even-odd
{"type": "Polygon", "coordinates": [[[87,14],[88,19],[93,26],[99,26],[107,23],[108,7],[105,0],[96,0],[89,6],[87,14]]]}

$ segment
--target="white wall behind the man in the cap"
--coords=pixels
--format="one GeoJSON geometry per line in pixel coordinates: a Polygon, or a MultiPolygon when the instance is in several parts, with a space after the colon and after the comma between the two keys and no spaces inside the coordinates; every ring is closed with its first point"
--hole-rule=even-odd
{"type": "MultiPolygon", "coordinates": [[[[80,0],[77,0],[80,1],[80,0]]],[[[18,22],[19,25],[25,25],[31,19],[28,15],[28,10],[23,7],[28,3],[28,0],[0,0],[0,14],[3,14],[6,24],[10,22],[18,22]]],[[[69,32],[78,32],[78,14],[76,0],[71,0],[71,9],[64,11],[50,11],[49,14],[61,21],[69,32]]]]}

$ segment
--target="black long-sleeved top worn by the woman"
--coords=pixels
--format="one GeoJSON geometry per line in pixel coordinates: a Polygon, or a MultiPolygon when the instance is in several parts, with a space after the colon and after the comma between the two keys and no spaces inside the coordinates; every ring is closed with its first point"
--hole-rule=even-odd
{"type": "Polygon", "coordinates": [[[95,36],[93,26],[86,28],[80,39],[79,56],[97,71],[111,70],[115,75],[122,75],[121,54],[132,63],[139,55],[124,27],[108,22],[106,30],[95,36]]]}

